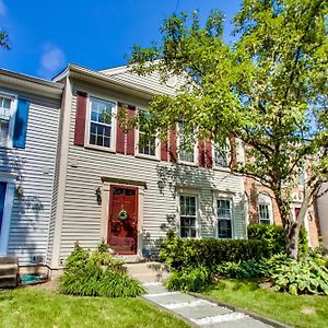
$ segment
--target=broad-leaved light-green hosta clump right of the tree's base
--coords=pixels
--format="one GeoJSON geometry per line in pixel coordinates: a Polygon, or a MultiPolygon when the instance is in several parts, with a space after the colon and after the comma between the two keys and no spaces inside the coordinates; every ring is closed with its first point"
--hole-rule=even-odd
{"type": "Polygon", "coordinates": [[[328,295],[328,269],[318,266],[313,258],[300,261],[286,259],[273,269],[274,290],[284,291],[293,295],[318,294],[328,295]]]}

